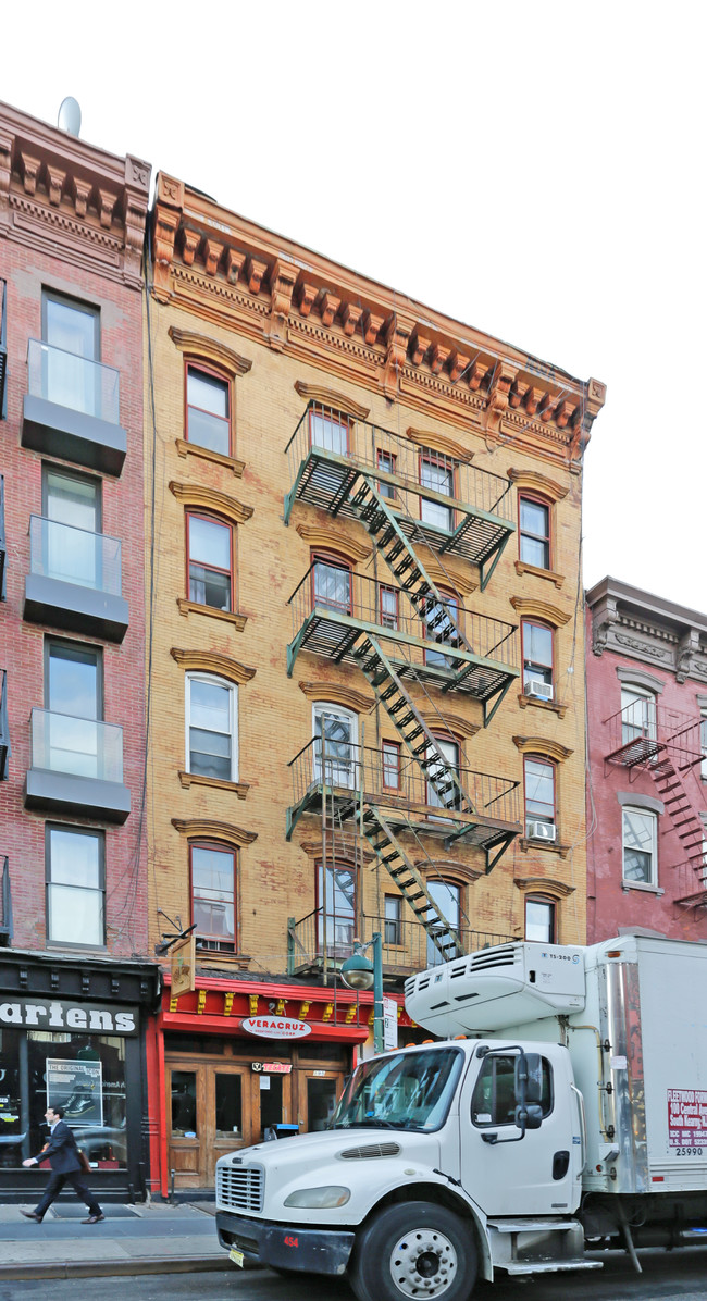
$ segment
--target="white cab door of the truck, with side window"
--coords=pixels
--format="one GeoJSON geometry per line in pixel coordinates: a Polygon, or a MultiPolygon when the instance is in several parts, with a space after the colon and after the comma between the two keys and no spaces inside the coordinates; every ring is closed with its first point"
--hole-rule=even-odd
{"type": "Polygon", "coordinates": [[[493,1050],[479,1060],[477,1073],[469,1072],[460,1108],[462,1184],[487,1215],[566,1215],[575,1203],[577,1108],[561,1063],[543,1053],[543,1121],[520,1138],[517,1058],[493,1050]]]}

